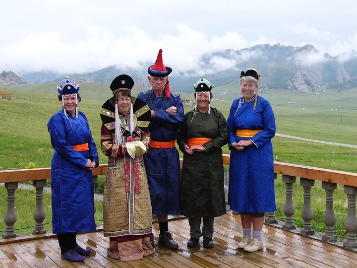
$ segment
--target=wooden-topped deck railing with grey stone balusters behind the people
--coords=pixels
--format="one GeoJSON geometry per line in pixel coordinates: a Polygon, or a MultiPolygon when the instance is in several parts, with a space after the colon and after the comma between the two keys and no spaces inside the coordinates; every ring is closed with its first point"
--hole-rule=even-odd
{"type": "MultiPolygon", "coordinates": [[[[230,156],[223,155],[223,163],[229,165],[230,156]]],[[[182,163],[182,160],[181,160],[182,163]]],[[[283,182],[286,185],[286,201],[284,205],[285,222],[278,222],[275,217],[275,212],[268,212],[265,219],[265,224],[283,228],[302,236],[313,239],[320,239],[330,244],[357,252],[356,231],[356,196],[357,196],[357,173],[344,172],[331,169],[323,169],[302,165],[294,165],[282,162],[274,162],[275,175],[282,174],[283,182]],[[295,206],[293,203],[293,185],[297,182],[297,177],[300,178],[300,185],[303,187],[303,207],[301,210],[301,218],[303,219],[303,227],[299,228],[293,223],[293,215],[295,206]],[[310,204],[311,188],[315,185],[315,181],[322,181],[322,188],[325,190],[326,209],[324,213],[325,233],[316,235],[312,229],[311,220],[314,213],[310,204]],[[344,193],[347,195],[348,214],[345,221],[345,229],[347,231],[346,240],[343,242],[337,241],[334,225],[336,217],[333,208],[333,194],[337,189],[337,185],[344,186],[344,193]]],[[[107,173],[107,165],[100,165],[93,170],[95,180],[98,175],[107,173]]],[[[33,235],[43,234],[43,221],[45,219],[45,211],[42,204],[43,189],[46,186],[46,180],[51,179],[51,168],[36,168],[22,169],[11,171],[0,171],[0,183],[4,183],[7,189],[7,209],[4,215],[6,230],[2,234],[3,239],[13,238],[16,236],[14,232],[14,224],[17,220],[15,211],[15,190],[18,188],[18,183],[22,181],[33,181],[33,186],[36,188],[36,207],[34,211],[34,220],[36,228],[33,235]]]]}

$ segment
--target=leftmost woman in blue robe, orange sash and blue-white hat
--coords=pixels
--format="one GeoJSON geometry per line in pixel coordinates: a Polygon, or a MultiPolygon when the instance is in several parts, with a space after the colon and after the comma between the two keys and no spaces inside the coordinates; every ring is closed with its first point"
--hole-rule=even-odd
{"type": "Polygon", "coordinates": [[[92,251],[76,242],[77,232],[96,230],[92,169],[98,152],[86,116],[78,111],[79,85],[67,76],[59,87],[62,109],[47,124],[55,152],[51,165],[52,228],[61,258],[82,262],[92,251]]]}

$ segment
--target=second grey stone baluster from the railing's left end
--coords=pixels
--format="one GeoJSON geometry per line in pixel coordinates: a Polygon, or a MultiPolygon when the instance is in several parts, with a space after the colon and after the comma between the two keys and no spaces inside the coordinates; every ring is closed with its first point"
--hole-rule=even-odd
{"type": "Polygon", "coordinates": [[[46,180],[33,181],[33,186],[36,188],[36,207],[33,214],[36,228],[32,234],[45,234],[46,230],[44,229],[43,221],[46,217],[46,212],[43,207],[43,189],[46,187],[46,180]]]}

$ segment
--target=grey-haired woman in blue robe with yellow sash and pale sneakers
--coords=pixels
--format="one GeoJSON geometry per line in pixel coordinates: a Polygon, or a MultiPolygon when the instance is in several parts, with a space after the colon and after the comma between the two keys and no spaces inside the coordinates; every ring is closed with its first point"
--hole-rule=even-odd
{"type": "Polygon", "coordinates": [[[275,118],[269,102],[257,94],[259,72],[253,67],[245,69],[239,81],[243,96],[232,103],[227,120],[231,150],[228,201],[241,217],[243,237],[238,248],[254,252],[263,248],[264,212],[276,210],[271,142],[275,118]]]}

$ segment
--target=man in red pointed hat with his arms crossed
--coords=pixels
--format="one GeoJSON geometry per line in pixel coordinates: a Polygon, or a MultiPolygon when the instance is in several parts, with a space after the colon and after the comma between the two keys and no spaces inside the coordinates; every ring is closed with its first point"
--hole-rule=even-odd
{"type": "MultiPolygon", "coordinates": [[[[179,152],[175,147],[183,123],[183,105],[179,94],[170,92],[168,75],[160,49],[154,65],[148,68],[151,88],[138,94],[151,111],[150,150],[144,155],[153,213],[157,215],[160,235],[158,244],[168,249],[179,248],[168,227],[168,214],[178,214],[180,196],[179,152]]],[[[154,244],[154,237],[151,242],[154,244]]]]}

